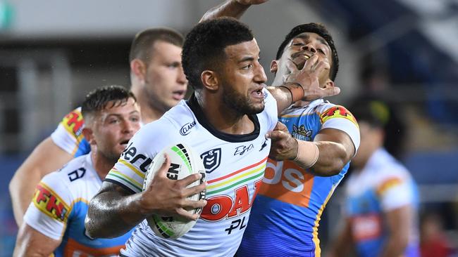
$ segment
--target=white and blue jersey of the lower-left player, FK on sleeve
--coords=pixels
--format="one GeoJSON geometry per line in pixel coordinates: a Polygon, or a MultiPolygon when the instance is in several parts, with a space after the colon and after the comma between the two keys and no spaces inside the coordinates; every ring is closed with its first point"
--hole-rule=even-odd
{"type": "Polygon", "coordinates": [[[52,239],[62,239],[54,256],[117,256],[130,232],[113,239],[85,235],[89,200],[101,187],[90,154],[77,157],[60,171],[49,173],[37,185],[24,221],[52,239]]]}

